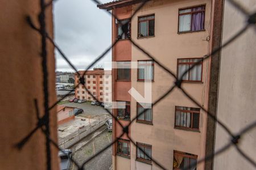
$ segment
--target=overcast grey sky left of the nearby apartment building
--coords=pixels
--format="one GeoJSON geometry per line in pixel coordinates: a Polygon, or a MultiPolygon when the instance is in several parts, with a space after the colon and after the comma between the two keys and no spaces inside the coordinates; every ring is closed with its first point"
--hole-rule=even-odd
{"type": "MultiPolygon", "coordinates": [[[[55,41],[78,70],[84,70],[111,45],[111,16],[91,0],[56,1],[53,13],[55,41]]],[[[73,71],[57,51],[55,57],[57,71],[73,71]]],[[[111,61],[111,50],[97,65],[104,61],[111,61]]]]}

